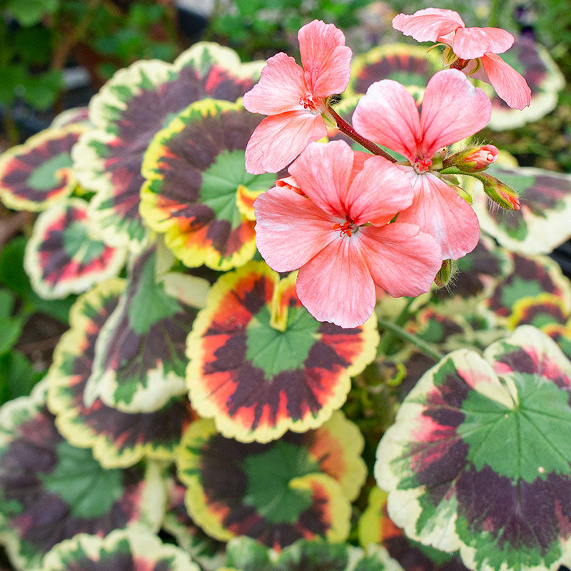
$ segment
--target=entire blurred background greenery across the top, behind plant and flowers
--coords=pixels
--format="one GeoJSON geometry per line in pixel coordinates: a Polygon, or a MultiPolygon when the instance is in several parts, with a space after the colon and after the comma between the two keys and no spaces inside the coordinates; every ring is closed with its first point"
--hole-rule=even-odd
{"type": "MultiPolygon", "coordinates": [[[[230,46],[243,61],[277,51],[294,55],[300,26],[323,19],[362,53],[390,41],[414,43],[392,29],[391,19],[435,4],[460,11],[468,26],[531,36],[547,47],[569,84],[568,0],[0,0],[4,147],[45,128],[64,108],[86,104],[117,69],[139,59],[172,61],[198,39],[230,46]]],[[[494,133],[495,142],[523,156],[522,164],[569,171],[569,89],[560,102],[536,123],[494,133]]]]}

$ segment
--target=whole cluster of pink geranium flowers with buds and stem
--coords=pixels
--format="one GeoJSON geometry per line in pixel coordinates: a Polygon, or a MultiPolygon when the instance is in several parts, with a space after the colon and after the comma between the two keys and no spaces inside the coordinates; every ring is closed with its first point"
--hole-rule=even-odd
{"type": "Polygon", "coordinates": [[[458,14],[438,9],[399,14],[393,26],[447,46],[443,59],[451,69],[430,79],[420,112],[404,86],[383,80],[358,102],[353,126],[345,122],[330,98],[348,85],[351,51],[343,33],[323,21],[299,31],[302,66],[286,54],[273,56],[243,98],[248,111],[268,116],[248,143],[246,169],[289,165],[290,175],[256,200],[258,250],[276,271],[299,269],[303,305],[345,328],[370,317],[379,289],[420,295],[442,266],[475,248],[480,226],[457,175],[479,178],[503,208],[520,206],[509,187],[481,172],[497,158],[494,146],[448,154],[448,146],[490,120],[490,99],[469,76],[491,83],[511,106],[529,104],[529,88],[515,70],[497,79],[507,64],[495,54],[511,46],[511,34],[465,28],[458,14]],[[328,123],[369,152],[345,141],[317,142],[328,123]]]}

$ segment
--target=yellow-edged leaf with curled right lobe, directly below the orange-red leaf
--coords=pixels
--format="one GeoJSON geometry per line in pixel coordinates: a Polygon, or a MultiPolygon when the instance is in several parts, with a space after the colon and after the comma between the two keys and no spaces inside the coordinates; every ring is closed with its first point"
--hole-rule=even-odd
{"type": "Polygon", "coordinates": [[[319,428],[245,444],[223,438],[211,420],[193,423],[177,458],[188,513],[219,540],[248,535],[272,547],[300,537],[343,540],[350,504],[336,462],[328,462],[331,440],[319,428]]]}

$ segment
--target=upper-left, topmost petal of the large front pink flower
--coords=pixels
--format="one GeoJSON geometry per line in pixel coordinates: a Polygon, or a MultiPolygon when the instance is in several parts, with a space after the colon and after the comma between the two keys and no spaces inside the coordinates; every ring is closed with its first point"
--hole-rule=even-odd
{"type": "Polygon", "coordinates": [[[345,141],[331,141],[308,145],[288,170],[315,205],[330,216],[344,218],[352,168],[350,146],[345,141]]]}

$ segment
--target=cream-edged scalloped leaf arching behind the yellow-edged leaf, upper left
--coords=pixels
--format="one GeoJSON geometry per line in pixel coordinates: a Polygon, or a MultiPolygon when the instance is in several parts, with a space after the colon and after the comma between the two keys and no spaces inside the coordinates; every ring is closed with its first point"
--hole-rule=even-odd
{"type": "Polygon", "coordinates": [[[82,186],[96,192],[94,217],[110,245],[143,247],[141,163],[151,138],[193,101],[236,101],[256,83],[260,70],[260,63],[241,64],[231,49],[201,42],[173,64],[138,61],[103,86],[91,101],[94,128],[79,141],[74,168],[82,186]]]}

